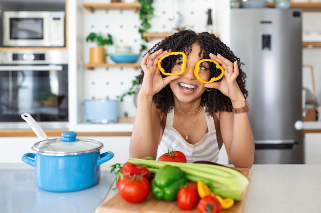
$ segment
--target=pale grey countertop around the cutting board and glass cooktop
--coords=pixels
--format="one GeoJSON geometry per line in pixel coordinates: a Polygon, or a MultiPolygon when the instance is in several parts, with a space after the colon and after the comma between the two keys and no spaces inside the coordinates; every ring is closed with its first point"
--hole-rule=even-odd
{"type": "MultiPolygon", "coordinates": [[[[109,167],[101,166],[102,170],[109,167]]],[[[33,168],[25,163],[0,163],[0,169],[33,168]]],[[[110,190],[105,200],[115,193],[110,190]]],[[[320,198],[321,164],[254,164],[244,212],[320,212],[320,198]]]]}

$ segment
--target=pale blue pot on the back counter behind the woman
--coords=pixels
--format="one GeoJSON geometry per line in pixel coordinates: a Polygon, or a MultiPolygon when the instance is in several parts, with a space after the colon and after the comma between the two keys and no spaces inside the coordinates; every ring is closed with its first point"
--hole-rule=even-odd
{"type": "Polygon", "coordinates": [[[84,102],[86,121],[91,124],[114,124],[118,121],[117,100],[87,100],[84,102]]]}

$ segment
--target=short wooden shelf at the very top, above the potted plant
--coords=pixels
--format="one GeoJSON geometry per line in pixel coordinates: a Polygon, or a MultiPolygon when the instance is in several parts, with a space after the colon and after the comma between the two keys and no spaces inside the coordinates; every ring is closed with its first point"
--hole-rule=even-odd
{"type": "Polygon", "coordinates": [[[89,12],[95,10],[133,10],[135,13],[141,9],[141,4],[137,3],[83,3],[83,7],[89,12]]]}

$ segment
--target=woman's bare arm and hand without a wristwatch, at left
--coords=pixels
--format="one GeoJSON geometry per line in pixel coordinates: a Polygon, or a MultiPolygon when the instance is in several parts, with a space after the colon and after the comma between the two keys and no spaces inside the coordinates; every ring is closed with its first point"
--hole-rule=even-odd
{"type": "Polygon", "coordinates": [[[168,52],[163,52],[161,49],[151,55],[146,54],[141,62],[144,78],[138,93],[137,111],[129,145],[130,157],[152,156],[156,158],[162,117],[160,111],[156,109],[153,96],[169,82],[179,78],[179,76],[166,78],[160,76],[157,61],[168,52]]]}

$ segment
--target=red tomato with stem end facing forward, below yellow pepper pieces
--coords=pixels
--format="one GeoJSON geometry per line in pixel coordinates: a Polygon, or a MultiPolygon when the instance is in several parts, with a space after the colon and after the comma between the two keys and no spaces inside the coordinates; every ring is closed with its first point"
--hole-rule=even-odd
{"type": "Polygon", "coordinates": [[[199,200],[197,210],[200,213],[219,213],[222,206],[217,198],[209,195],[199,200]]]}

